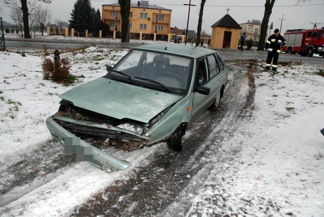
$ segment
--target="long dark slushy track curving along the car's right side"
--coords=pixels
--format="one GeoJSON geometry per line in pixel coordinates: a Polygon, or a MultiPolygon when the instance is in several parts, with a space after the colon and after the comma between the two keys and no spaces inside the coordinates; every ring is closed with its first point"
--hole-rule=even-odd
{"type": "Polygon", "coordinates": [[[162,213],[181,194],[191,177],[209,165],[210,154],[219,148],[221,141],[234,134],[236,119],[244,116],[253,103],[252,96],[244,100],[247,90],[251,90],[248,76],[236,69],[231,71],[221,109],[215,113],[206,111],[188,127],[182,152],[166,150],[149,157],[149,163],[132,171],[129,179],[116,180],[115,185],[95,195],[95,199],[76,207],[72,216],[156,216],[162,213]],[[241,90],[244,94],[240,94],[241,90]],[[224,127],[223,123],[228,125],[224,127]],[[211,133],[216,145],[209,139],[211,133]]]}

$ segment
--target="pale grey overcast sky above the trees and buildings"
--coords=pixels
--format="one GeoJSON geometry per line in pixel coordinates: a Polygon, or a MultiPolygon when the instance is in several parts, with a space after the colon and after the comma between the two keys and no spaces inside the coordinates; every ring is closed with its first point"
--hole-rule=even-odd
{"type": "MultiPolygon", "coordinates": [[[[75,0],[76,1],[76,0],[75,0]]],[[[50,5],[45,5],[53,13],[53,18],[68,21],[70,13],[73,9],[74,0],[52,0],[50,5]]],[[[207,0],[204,9],[203,30],[211,33],[211,26],[227,14],[226,9],[229,8],[229,15],[238,23],[245,23],[248,20],[262,21],[264,14],[264,2],[261,0],[207,0]]],[[[311,2],[296,6],[297,0],[276,0],[270,16],[269,25],[273,22],[273,28],[280,29],[284,33],[287,29],[313,28],[314,23],[320,23],[318,28],[324,26],[324,0],[311,0],[311,2]],[[313,23],[313,24],[312,24],[313,23]]],[[[101,11],[102,5],[117,3],[113,0],[91,0],[92,7],[101,11]]],[[[137,1],[132,0],[132,3],[137,1]]],[[[171,26],[177,26],[185,29],[188,18],[189,0],[149,0],[150,5],[157,5],[172,10],[171,26]]],[[[198,14],[200,0],[191,0],[189,29],[197,30],[198,14]]],[[[4,21],[10,21],[10,9],[8,9],[3,0],[0,0],[0,16],[4,21]]]]}

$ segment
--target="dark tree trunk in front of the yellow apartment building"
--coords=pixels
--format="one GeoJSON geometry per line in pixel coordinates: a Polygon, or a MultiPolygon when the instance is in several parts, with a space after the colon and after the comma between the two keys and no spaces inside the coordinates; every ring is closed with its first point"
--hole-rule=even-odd
{"type": "Polygon", "coordinates": [[[130,42],[129,17],[131,12],[131,0],[118,0],[121,16],[121,42],[130,42]]]}

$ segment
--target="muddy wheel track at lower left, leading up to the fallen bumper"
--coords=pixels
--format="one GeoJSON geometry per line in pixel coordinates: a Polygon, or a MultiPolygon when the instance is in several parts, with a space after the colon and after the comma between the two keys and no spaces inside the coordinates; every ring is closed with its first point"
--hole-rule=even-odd
{"type": "Polygon", "coordinates": [[[54,141],[22,154],[19,159],[0,168],[0,206],[32,191],[37,185],[23,192],[15,190],[16,187],[29,185],[35,180],[42,185],[50,181],[45,179],[50,173],[76,162],[74,155],[64,154],[63,146],[54,141]]]}

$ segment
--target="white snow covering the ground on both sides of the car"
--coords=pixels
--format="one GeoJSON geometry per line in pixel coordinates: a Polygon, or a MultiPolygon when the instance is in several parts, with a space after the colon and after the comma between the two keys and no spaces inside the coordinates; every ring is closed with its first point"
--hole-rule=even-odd
{"type": "MultiPolygon", "coordinates": [[[[78,85],[104,75],[104,65],[113,65],[126,52],[92,47],[61,58],[71,61],[71,74],[84,76],[78,85]]],[[[73,88],[43,80],[41,64],[39,54],[0,52],[1,171],[50,143],[45,120],[57,111],[58,95],[73,88]]],[[[318,74],[323,75],[322,63],[280,67],[278,74],[255,73],[252,117],[237,123],[239,130],[210,156],[200,171],[209,169],[210,175],[204,180],[199,173],[189,177],[190,185],[167,209],[177,210],[189,197],[190,210],[180,210],[178,216],[324,216],[324,137],[319,132],[324,127],[324,77],[318,74]],[[227,152],[233,149],[235,154],[227,152]],[[199,189],[193,191],[197,182],[199,189]]],[[[132,169],[165,149],[157,144],[130,153],[108,152],[131,161],[132,169]]],[[[0,173],[0,190],[13,176],[0,173]]],[[[128,170],[108,174],[87,162],[44,171],[29,185],[0,194],[0,215],[69,215],[115,179],[127,177],[128,170]]]]}

